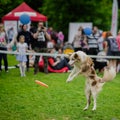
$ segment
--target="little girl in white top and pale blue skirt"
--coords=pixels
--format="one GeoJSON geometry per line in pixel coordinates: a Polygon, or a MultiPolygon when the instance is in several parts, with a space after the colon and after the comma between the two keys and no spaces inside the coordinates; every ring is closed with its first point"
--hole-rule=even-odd
{"type": "Polygon", "coordinates": [[[19,54],[17,55],[17,60],[19,61],[19,68],[20,68],[20,74],[21,77],[25,76],[25,68],[26,68],[26,62],[27,62],[27,57],[25,53],[27,52],[27,43],[24,42],[25,37],[21,35],[19,37],[19,42],[17,44],[17,51],[19,54]]]}

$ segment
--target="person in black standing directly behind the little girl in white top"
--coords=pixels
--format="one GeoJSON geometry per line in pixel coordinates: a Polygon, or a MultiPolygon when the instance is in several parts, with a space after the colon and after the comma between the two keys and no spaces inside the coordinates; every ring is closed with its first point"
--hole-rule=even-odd
{"type": "MultiPolygon", "coordinates": [[[[28,45],[28,50],[31,49],[31,40],[32,40],[32,35],[31,33],[28,31],[28,26],[23,24],[21,27],[21,31],[18,32],[17,35],[17,41],[19,42],[19,37],[21,35],[25,36],[25,43],[27,43],[28,45]]],[[[26,66],[27,66],[27,71],[29,71],[29,55],[27,55],[27,62],[26,62],[26,66]]]]}

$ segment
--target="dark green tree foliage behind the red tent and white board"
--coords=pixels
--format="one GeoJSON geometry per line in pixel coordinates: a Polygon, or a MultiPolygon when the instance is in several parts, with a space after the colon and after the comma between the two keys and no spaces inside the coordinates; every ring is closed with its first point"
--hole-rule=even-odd
{"type": "Polygon", "coordinates": [[[48,26],[62,30],[66,36],[70,22],[92,22],[102,30],[111,27],[113,0],[1,0],[0,18],[23,1],[46,15],[48,26]]]}

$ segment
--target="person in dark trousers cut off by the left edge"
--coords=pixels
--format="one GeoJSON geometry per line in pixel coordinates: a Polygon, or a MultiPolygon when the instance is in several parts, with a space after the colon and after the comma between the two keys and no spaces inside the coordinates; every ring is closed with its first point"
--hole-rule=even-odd
{"type": "MultiPolygon", "coordinates": [[[[0,24],[0,50],[7,51],[7,37],[2,24],[0,24]]],[[[0,72],[2,71],[2,59],[4,60],[5,71],[8,72],[6,53],[0,53],[0,72]]]]}

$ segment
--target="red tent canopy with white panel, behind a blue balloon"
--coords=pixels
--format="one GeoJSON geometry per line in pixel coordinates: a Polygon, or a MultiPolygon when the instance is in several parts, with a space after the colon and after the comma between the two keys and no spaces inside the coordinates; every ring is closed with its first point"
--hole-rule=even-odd
{"type": "Polygon", "coordinates": [[[20,15],[26,13],[30,16],[31,21],[47,21],[47,17],[36,12],[25,2],[19,5],[17,8],[13,9],[11,12],[3,16],[2,21],[4,20],[19,20],[20,15]]]}

